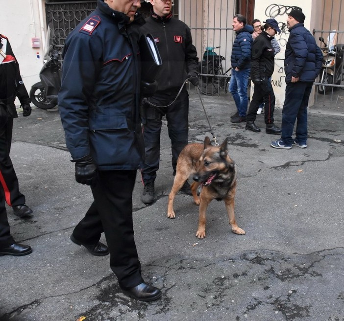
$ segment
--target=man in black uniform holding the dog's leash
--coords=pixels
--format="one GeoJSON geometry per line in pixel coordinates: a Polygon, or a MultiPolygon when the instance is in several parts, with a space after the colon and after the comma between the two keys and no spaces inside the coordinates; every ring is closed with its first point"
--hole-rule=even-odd
{"type": "MultiPolygon", "coordinates": [[[[172,17],[172,0],[150,0],[150,3],[153,10],[140,31],[152,34],[163,64],[156,77],[158,90],[145,103],[142,113],[146,160],[142,169],[145,186],[141,200],[145,204],[154,202],[154,181],[160,162],[162,117],[166,115],[175,174],[179,153],[188,143],[189,95],[185,85],[178,98],[174,99],[186,79],[194,86],[198,84],[197,51],[192,44],[190,28],[172,17]]],[[[188,182],[181,190],[191,195],[188,182]]]]}

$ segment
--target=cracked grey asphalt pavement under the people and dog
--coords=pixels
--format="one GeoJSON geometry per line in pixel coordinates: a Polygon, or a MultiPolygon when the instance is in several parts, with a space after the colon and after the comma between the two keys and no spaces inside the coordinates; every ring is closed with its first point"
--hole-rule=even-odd
{"type": "MultiPolygon", "coordinates": [[[[74,181],[57,108],[15,119],[11,157],[34,213],[21,219],[7,207],[8,218],[16,241],[33,252],[0,257],[0,321],[344,321],[344,106],[311,108],[308,147],[279,150],[263,115],[262,132],[253,133],[230,123],[229,94],[202,99],[237,164],[235,213],[246,234],[232,233],[224,203],[213,201],[207,236],[197,239],[198,207],[185,194],[176,196],[176,218],[167,218],[173,176],[164,120],[157,200],[141,203],[140,173],[133,195],[143,276],[163,293],[150,303],[122,294],[109,256],[69,239],[92,196],[74,181]]],[[[195,92],[189,114],[190,142],[212,138],[195,92]]]]}

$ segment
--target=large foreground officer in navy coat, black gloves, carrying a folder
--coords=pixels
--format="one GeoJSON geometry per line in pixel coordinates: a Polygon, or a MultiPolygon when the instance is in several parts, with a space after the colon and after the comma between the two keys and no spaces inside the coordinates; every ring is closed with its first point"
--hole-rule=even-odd
{"type": "Polygon", "coordinates": [[[141,276],[132,222],[132,191],[144,157],[138,8],[140,0],[98,0],[75,27],[63,52],[58,105],[75,180],[91,185],[94,197],[71,240],[94,255],[110,252],[123,292],[151,301],[161,291],[141,276]],[[107,246],[99,242],[103,231],[107,246]]]}

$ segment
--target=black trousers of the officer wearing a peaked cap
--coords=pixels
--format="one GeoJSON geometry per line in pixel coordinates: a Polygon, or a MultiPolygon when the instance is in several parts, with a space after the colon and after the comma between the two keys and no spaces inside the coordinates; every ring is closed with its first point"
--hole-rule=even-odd
{"type": "Polygon", "coordinates": [[[270,81],[263,85],[254,85],[252,100],[249,104],[246,120],[255,121],[260,104],[264,101],[264,122],[273,124],[273,112],[275,110],[275,94],[270,81]]]}

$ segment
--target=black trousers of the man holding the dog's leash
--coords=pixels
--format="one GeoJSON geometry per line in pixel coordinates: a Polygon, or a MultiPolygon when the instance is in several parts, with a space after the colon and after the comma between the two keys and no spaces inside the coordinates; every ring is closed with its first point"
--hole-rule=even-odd
{"type": "MultiPolygon", "coordinates": [[[[179,89],[178,89],[179,90],[179,89]]],[[[166,106],[176,97],[178,90],[157,92],[149,101],[157,106],[166,106]]],[[[154,108],[145,105],[143,112],[143,134],[145,140],[146,160],[141,171],[145,183],[156,178],[160,163],[160,133],[162,117],[166,115],[169,137],[171,139],[172,168],[175,170],[181,150],[188,144],[189,138],[189,94],[184,86],[179,97],[169,107],[154,108]]]]}

